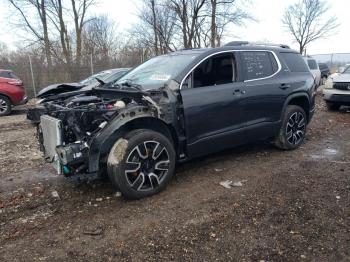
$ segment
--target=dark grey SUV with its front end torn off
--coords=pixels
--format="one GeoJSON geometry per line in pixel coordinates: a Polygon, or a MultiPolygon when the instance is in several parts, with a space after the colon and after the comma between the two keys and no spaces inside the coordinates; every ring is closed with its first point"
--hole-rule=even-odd
{"type": "Polygon", "coordinates": [[[113,89],[58,95],[44,104],[38,137],[59,173],[107,172],[139,199],[164,189],[177,162],[261,139],[299,147],[314,96],[297,52],[231,42],[152,58],[113,89]]]}

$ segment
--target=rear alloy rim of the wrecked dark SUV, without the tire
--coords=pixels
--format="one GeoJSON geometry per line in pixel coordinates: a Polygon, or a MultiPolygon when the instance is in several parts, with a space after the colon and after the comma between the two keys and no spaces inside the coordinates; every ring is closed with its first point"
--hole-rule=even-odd
{"type": "Polygon", "coordinates": [[[300,112],[294,112],[288,120],[286,126],[287,141],[292,145],[297,145],[304,138],[306,122],[305,117],[300,112]]]}

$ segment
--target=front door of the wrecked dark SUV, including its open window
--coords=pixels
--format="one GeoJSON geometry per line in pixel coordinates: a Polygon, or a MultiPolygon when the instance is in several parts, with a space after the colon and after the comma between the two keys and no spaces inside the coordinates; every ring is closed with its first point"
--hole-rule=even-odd
{"type": "Polygon", "coordinates": [[[244,83],[237,69],[235,53],[224,52],[205,59],[186,78],[181,96],[190,157],[246,141],[244,83]]]}

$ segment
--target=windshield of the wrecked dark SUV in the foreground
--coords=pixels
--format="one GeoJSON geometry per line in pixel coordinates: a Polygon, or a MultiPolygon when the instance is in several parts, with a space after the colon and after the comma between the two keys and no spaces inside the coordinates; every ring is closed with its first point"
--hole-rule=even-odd
{"type": "Polygon", "coordinates": [[[120,78],[117,84],[131,82],[144,90],[159,88],[180,73],[197,55],[177,53],[154,57],[120,78]]]}

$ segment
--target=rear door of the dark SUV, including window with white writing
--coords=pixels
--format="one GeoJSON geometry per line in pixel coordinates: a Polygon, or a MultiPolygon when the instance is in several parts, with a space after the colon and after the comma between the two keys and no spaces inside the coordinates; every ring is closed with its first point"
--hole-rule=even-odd
{"type": "Polygon", "coordinates": [[[244,72],[243,115],[247,137],[256,140],[274,136],[290,83],[281,77],[282,66],[272,51],[242,51],[244,72]]]}

